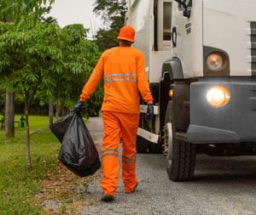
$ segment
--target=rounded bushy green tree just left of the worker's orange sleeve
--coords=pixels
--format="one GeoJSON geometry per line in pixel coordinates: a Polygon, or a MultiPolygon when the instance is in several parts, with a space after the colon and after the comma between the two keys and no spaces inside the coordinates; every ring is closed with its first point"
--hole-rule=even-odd
{"type": "MultiPolygon", "coordinates": [[[[95,42],[86,39],[88,30],[83,25],[67,25],[62,30],[67,39],[62,41],[62,57],[64,76],[56,76],[55,101],[62,106],[73,107],[79,99],[81,89],[93,71],[100,52],[95,42]],[[72,76],[70,74],[73,74],[72,76]],[[63,86],[63,88],[60,88],[63,86]]],[[[96,93],[86,102],[86,116],[95,116],[102,104],[103,88],[97,88],[96,93]]]]}

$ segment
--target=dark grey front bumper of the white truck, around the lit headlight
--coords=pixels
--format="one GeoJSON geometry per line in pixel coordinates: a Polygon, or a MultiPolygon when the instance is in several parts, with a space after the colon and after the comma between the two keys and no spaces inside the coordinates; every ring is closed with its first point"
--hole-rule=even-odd
{"type": "Polygon", "coordinates": [[[256,141],[256,77],[204,77],[190,86],[188,141],[195,144],[256,141]],[[213,107],[207,91],[220,85],[230,90],[230,102],[213,107]]]}

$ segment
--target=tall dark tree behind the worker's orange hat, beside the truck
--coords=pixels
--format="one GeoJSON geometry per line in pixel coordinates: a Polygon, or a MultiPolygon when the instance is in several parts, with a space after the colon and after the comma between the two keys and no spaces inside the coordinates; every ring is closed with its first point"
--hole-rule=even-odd
{"type": "Polygon", "coordinates": [[[102,17],[107,27],[100,28],[95,41],[101,51],[118,45],[119,29],[125,25],[127,3],[125,0],[96,0],[93,11],[102,17]]]}

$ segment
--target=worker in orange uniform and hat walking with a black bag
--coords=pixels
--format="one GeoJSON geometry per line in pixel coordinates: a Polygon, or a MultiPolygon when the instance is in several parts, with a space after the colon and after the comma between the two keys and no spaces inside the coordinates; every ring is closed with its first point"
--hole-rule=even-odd
{"type": "Polygon", "coordinates": [[[136,136],[140,117],[140,94],[148,104],[147,117],[154,115],[153,98],[148,86],[143,53],[131,48],[135,31],[129,25],[119,30],[119,47],[103,52],[85,83],[76,109],[84,107],[96,87],[104,80],[104,99],[102,120],[104,136],[102,139],[102,201],[113,201],[118,189],[119,143],[122,140],[122,179],[125,193],[137,188],[136,176],[136,136]]]}

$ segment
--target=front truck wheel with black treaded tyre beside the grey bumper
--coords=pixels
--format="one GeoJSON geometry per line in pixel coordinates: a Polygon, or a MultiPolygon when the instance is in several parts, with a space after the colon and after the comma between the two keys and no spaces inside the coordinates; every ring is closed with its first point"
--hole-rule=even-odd
{"type": "Polygon", "coordinates": [[[166,167],[172,181],[189,181],[195,172],[195,144],[186,143],[172,137],[172,123],[168,122],[165,131],[166,167]]]}

